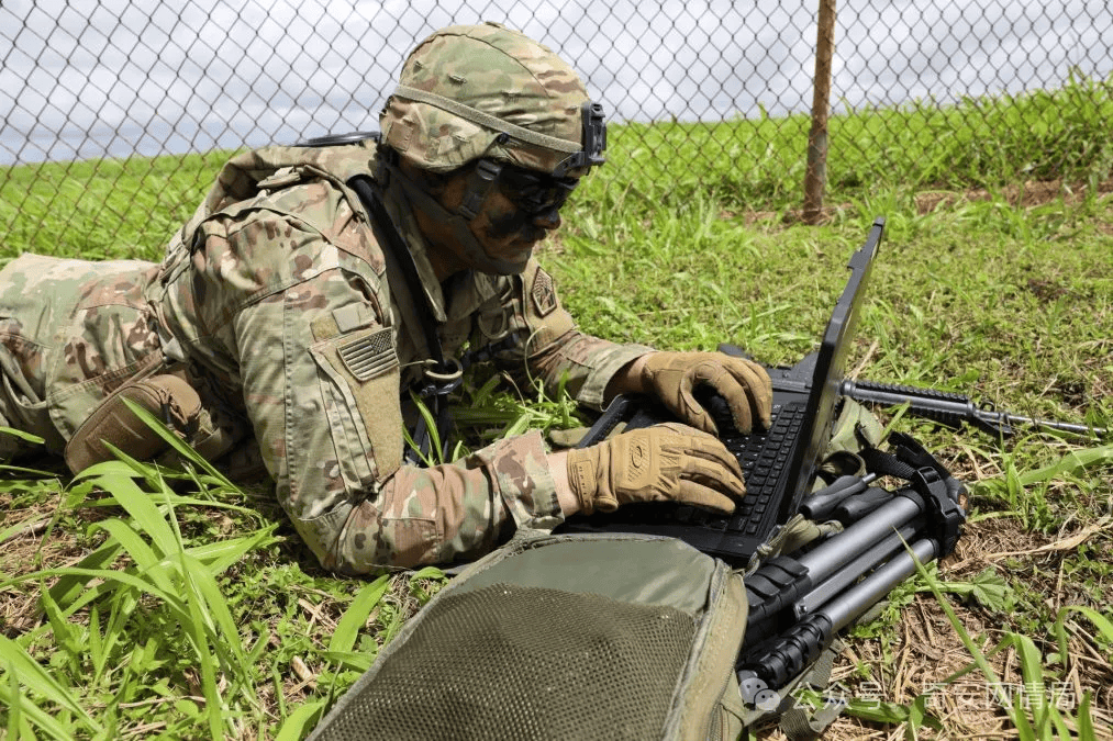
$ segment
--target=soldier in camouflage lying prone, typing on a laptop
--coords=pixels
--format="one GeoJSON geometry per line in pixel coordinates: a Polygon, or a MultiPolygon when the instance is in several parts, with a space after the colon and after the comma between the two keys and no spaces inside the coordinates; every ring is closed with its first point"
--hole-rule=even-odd
{"type": "Polygon", "coordinates": [[[124,398],[218,464],[257,449],[297,532],[349,574],[473,559],[515,527],[632,501],[731,511],[741,471],[692,388],[713,386],[748,431],[768,425],[764,370],[588,336],[531,256],[603,162],[601,107],[575,72],[496,24],[444,29],[410,55],[380,122],[381,140],[235,157],[160,265],[10,263],[0,424],[75,472],[110,457],[102,441],[165,452],[124,398]],[[595,409],[654,394],[687,425],[407,461],[402,399],[442,405],[476,355],[595,409]]]}

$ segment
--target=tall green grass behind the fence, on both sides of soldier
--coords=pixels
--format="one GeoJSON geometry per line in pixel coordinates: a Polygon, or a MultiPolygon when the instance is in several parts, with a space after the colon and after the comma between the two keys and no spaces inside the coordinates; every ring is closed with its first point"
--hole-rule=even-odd
{"type": "MultiPolygon", "coordinates": [[[[1113,167],[1110,120],[1113,81],[1081,76],[1060,90],[834,116],[827,202],[1031,179],[1092,189],[1113,167]]],[[[802,202],[809,128],[802,115],[611,126],[609,164],[578,198],[597,205],[594,213],[646,214],[702,197],[731,211],[785,214],[802,202]]],[[[0,169],[0,245],[157,259],[229,154],[0,169]]]]}

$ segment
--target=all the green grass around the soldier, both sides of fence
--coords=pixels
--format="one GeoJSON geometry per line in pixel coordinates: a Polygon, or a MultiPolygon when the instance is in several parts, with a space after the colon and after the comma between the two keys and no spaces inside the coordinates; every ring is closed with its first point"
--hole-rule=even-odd
{"type": "MultiPolygon", "coordinates": [[[[1113,426],[1113,201],[1097,192],[1113,178],[1107,98],[1080,81],[835,119],[818,227],[792,218],[802,119],[618,128],[615,174],[577,192],[541,259],[588,332],[669,348],[729,342],[784,364],[814,348],[848,256],[885,215],[851,357],[860,377],[1113,426]],[[947,136],[952,119],[977,127],[947,136]],[[1066,187],[1014,205],[1036,178],[1066,187]],[[925,210],[925,191],[949,197],[925,210]]],[[[0,224],[13,225],[0,258],[158,259],[221,159],[156,160],[173,207],[126,195],[149,182],[141,160],[16,168],[0,186],[0,224]],[[51,237],[75,227],[79,237],[51,237]]],[[[483,375],[463,402],[465,446],[582,423],[565,401],[483,375]]],[[[1113,446],[895,425],[971,484],[971,518],[955,556],[856,629],[838,682],[858,700],[836,733],[1109,738],[1113,446]],[[929,639],[909,632],[922,628],[929,639]],[[1063,684],[1074,701],[939,709],[947,688],[972,682],[1031,684],[1036,698],[1063,684]]],[[[105,464],[78,481],[35,468],[0,470],[0,738],[299,738],[444,581],[436,570],[334,577],[269,492],[198,460],[184,473],[105,464]]]]}

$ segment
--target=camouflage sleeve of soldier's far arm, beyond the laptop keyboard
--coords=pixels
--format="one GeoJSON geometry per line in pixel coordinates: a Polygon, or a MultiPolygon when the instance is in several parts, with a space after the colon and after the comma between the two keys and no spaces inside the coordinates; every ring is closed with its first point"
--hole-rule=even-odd
{"type": "Polygon", "coordinates": [[[520,332],[524,342],[499,359],[519,381],[526,375],[540,377],[550,392],[563,383],[577,402],[601,409],[611,377],[652,352],[646,345],[613,343],[581,332],[561,305],[552,276],[536,260],[530,260],[525,273],[511,281],[499,310],[509,316],[510,329],[520,332]]]}

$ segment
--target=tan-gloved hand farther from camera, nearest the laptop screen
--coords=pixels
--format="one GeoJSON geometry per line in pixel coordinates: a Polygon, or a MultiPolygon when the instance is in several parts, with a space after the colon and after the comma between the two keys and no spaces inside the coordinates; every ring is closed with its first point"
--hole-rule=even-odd
{"type": "Polygon", "coordinates": [[[692,391],[711,386],[730,407],[738,432],[749,434],[755,423],[769,426],[772,383],[757,363],[723,353],[651,353],[641,370],[644,388],[691,426],[707,433],[720,432],[692,391]]]}

